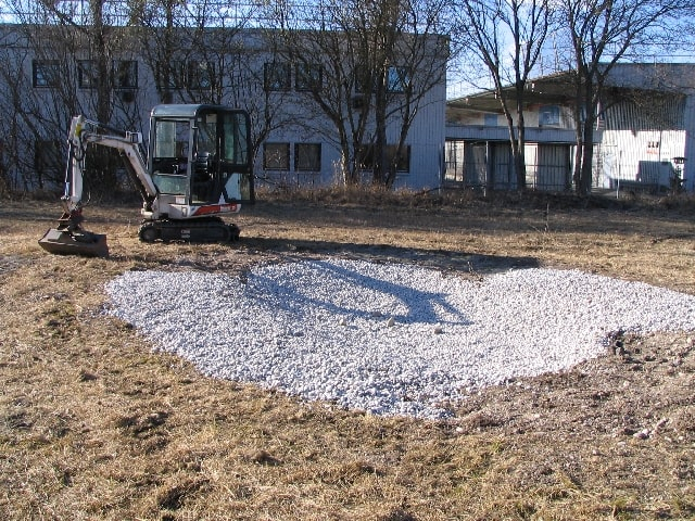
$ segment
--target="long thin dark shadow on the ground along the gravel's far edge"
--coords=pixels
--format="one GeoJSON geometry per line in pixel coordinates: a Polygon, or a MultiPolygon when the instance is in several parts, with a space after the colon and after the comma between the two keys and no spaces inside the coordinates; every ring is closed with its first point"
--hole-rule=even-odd
{"type": "Polygon", "coordinates": [[[534,257],[480,255],[447,250],[420,250],[389,244],[355,244],[345,242],[278,240],[242,238],[240,247],[276,253],[298,258],[332,256],[372,263],[409,263],[442,270],[456,270],[470,275],[490,275],[508,269],[538,268],[534,257]]]}

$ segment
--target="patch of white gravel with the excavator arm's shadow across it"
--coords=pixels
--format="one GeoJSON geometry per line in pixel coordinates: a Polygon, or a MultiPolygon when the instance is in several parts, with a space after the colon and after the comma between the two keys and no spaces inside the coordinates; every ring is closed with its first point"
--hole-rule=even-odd
{"type": "Polygon", "coordinates": [[[695,330],[695,296],[577,270],[477,282],[307,260],[243,278],[129,271],[106,291],[112,315],[206,374],[424,418],[477,387],[598,356],[614,331],[695,330]]]}

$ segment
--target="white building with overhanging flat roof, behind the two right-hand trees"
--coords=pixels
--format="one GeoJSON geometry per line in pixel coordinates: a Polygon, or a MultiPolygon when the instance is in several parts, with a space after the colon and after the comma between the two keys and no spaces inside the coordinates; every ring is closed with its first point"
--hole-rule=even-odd
{"type": "MultiPolygon", "coordinates": [[[[566,190],[572,186],[572,92],[566,73],[528,84],[529,188],[566,190]]],[[[602,93],[594,140],[596,189],[664,191],[680,178],[685,189],[695,190],[695,64],[616,65],[602,93]]],[[[444,183],[516,188],[509,131],[494,92],[448,102],[444,183]]]]}

